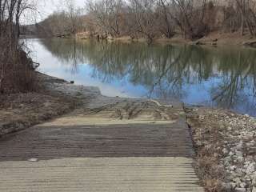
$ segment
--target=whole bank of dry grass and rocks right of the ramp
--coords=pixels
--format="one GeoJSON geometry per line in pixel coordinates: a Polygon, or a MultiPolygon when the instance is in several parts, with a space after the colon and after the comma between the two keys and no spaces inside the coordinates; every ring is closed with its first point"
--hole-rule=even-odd
{"type": "Polygon", "coordinates": [[[207,191],[255,192],[256,119],[227,110],[186,108],[207,191]]]}

